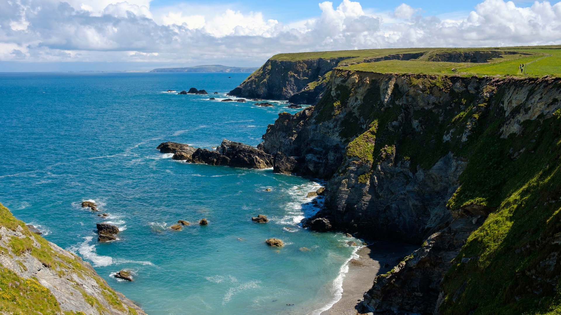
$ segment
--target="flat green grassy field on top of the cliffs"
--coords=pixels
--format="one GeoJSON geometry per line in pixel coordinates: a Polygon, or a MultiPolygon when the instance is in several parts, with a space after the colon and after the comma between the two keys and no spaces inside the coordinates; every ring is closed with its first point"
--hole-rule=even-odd
{"type": "Polygon", "coordinates": [[[271,59],[304,61],[341,57],[345,59],[339,63],[339,68],[365,72],[462,76],[561,76],[561,45],[339,50],[277,54],[271,59]],[[396,55],[402,56],[396,57],[396,55]],[[519,69],[521,63],[526,65],[523,73],[519,69]]]}

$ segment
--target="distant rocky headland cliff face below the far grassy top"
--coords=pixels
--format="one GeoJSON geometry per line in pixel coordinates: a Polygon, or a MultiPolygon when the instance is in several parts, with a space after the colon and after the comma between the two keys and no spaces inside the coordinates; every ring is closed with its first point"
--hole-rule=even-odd
{"type": "Polygon", "coordinates": [[[352,57],[298,61],[279,61],[273,57],[228,95],[248,99],[288,100],[291,96],[306,90],[297,101],[298,103],[308,103],[314,101],[323,92],[321,88],[325,88],[324,76],[326,73],[347,58],[352,57]],[[316,82],[316,84],[308,86],[312,82],[316,82]],[[315,90],[318,84],[320,88],[315,90]]]}

